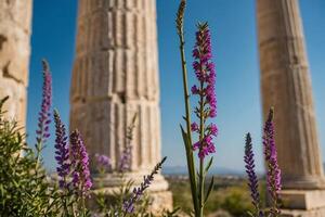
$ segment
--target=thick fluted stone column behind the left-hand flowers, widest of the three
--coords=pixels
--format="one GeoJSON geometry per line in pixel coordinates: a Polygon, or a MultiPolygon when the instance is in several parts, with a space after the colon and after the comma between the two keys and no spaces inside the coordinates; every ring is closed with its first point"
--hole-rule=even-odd
{"type": "MultiPolygon", "coordinates": [[[[92,158],[105,154],[116,168],[136,113],[130,176],[140,181],[161,159],[156,1],[79,0],[77,29],[70,128],[82,132],[92,158]]],[[[168,183],[155,180],[151,189],[168,200],[160,207],[170,207],[168,183]]],[[[105,186],[118,182],[107,175],[105,186]]]]}

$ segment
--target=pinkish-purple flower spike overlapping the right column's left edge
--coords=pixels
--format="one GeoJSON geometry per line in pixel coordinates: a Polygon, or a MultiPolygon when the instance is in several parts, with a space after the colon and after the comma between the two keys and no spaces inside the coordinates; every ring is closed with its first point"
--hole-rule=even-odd
{"type": "Polygon", "coordinates": [[[266,186],[269,194],[273,202],[271,212],[276,216],[280,214],[278,209],[278,193],[281,191],[281,169],[277,164],[277,152],[274,139],[274,124],[273,124],[273,108],[270,110],[269,117],[263,130],[263,146],[264,157],[266,163],[266,186]]]}

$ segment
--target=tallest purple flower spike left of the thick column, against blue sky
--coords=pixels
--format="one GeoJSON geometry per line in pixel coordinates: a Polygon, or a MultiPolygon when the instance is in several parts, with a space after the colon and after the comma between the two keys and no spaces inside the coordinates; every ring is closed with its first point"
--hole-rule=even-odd
{"type": "Polygon", "coordinates": [[[37,143],[44,143],[50,137],[49,125],[51,123],[51,104],[52,104],[52,77],[49,64],[46,60],[43,65],[43,87],[42,87],[42,102],[41,110],[38,113],[38,129],[36,130],[37,143]]]}

